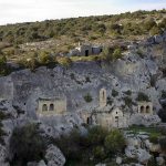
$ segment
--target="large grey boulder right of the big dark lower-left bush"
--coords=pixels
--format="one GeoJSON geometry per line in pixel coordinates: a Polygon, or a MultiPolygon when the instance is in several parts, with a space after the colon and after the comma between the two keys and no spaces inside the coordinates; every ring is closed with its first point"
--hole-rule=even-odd
{"type": "Polygon", "coordinates": [[[54,145],[49,146],[45,158],[48,160],[48,166],[63,166],[65,164],[63,154],[54,145]]]}

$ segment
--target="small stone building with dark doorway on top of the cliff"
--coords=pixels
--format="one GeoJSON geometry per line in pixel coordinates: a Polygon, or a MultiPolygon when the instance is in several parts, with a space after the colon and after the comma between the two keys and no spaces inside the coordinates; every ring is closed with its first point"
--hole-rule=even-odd
{"type": "Polygon", "coordinates": [[[102,52],[102,46],[92,45],[92,44],[80,44],[74,50],[71,50],[69,55],[80,55],[80,56],[89,56],[89,55],[96,55],[102,52]]]}

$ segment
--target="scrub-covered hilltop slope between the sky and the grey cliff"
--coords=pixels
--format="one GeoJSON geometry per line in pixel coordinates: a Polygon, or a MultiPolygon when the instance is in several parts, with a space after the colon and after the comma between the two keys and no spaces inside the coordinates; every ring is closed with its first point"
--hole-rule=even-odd
{"type": "MultiPolygon", "coordinates": [[[[3,56],[3,60],[6,56],[7,61],[14,61],[32,70],[58,61],[69,66],[71,64],[69,59],[56,58],[66,54],[77,45],[77,42],[91,42],[115,45],[112,56],[105,49],[102,58],[113,60],[122,56],[121,52],[124,48],[120,48],[120,43],[142,40],[148,35],[160,34],[165,30],[165,9],[7,24],[0,27],[0,56],[3,56]]],[[[83,60],[98,59],[94,56],[83,60]]],[[[73,58],[72,61],[77,60],[80,58],[73,58]]],[[[9,72],[6,70],[1,74],[4,75],[3,73],[9,72]]]]}

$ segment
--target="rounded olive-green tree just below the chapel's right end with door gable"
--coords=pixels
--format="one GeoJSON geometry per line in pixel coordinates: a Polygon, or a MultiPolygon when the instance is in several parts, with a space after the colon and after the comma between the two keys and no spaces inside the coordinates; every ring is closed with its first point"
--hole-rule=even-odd
{"type": "Polygon", "coordinates": [[[121,152],[125,146],[125,138],[118,129],[113,129],[106,136],[104,145],[108,154],[121,152]]]}

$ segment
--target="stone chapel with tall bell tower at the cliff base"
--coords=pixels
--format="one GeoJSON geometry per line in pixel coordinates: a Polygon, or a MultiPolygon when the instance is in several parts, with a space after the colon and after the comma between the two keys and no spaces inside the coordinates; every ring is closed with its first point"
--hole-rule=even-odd
{"type": "Polygon", "coordinates": [[[81,117],[89,125],[101,125],[107,129],[128,127],[128,116],[118,107],[107,105],[106,90],[101,89],[98,106],[92,112],[83,111],[81,117]]]}

